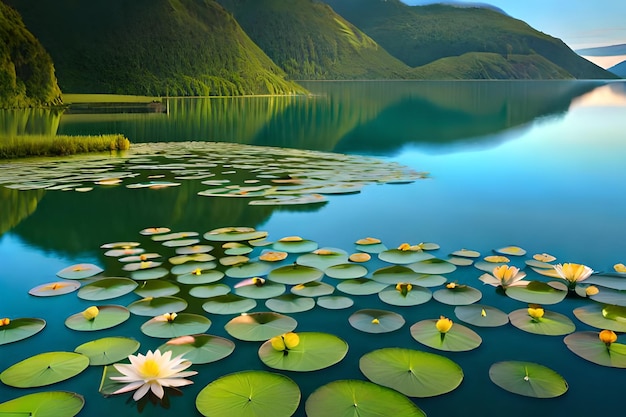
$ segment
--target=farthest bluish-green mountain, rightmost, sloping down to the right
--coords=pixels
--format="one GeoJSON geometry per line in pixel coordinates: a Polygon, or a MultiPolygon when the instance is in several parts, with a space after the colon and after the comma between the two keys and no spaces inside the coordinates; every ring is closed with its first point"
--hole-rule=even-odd
{"type": "MultiPolygon", "coordinates": [[[[499,78],[526,78],[532,73],[535,78],[563,78],[563,74],[568,78],[616,78],[577,55],[561,40],[488,8],[408,6],[399,0],[324,1],[411,67],[468,53],[487,53],[498,54],[507,61],[516,59],[514,63],[496,64],[503,71],[499,78]],[[540,68],[548,65],[546,61],[551,65],[544,74],[540,68]]],[[[476,74],[481,69],[482,58],[480,55],[472,58],[471,62],[464,61],[471,64],[470,74],[476,74]]],[[[493,60],[492,55],[487,58],[493,60]]],[[[440,78],[449,78],[445,74],[440,78]]]]}

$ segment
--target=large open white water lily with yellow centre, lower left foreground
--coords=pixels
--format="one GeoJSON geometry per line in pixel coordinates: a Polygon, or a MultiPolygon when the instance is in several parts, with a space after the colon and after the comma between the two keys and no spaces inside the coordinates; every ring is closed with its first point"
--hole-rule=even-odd
{"type": "Polygon", "coordinates": [[[153,353],[149,350],[145,356],[140,353],[136,356],[130,355],[128,359],[130,364],[113,365],[124,376],[113,376],[111,379],[127,383],[113,394],[137,390],[133,394],[135,401],[139,401],[150,390],[161,399],[165,394],[163,387],[193,384],[192,381],[183,378],[197,374],[196,371],[181,372],[189,368],[191,362],[183,359],[182,355],[172,359],[171,351],[161,353],[157,349],[153,353]]]}

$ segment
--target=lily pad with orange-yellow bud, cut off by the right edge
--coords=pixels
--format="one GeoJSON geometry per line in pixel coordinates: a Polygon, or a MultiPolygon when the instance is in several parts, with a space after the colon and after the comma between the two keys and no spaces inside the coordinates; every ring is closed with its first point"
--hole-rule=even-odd
{"type": "Polygon", "coordinates": [[[602,366],[626,368],[626,345],[611,343],[607,346],[598,332],[577,332],[563,339],[568,349],[581,358],[602,366]]]}

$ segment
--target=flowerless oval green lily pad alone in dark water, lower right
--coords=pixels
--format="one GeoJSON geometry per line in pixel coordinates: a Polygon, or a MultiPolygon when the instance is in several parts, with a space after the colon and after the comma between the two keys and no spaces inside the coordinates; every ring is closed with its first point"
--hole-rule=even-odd
{"type": "Polygon", "coordinates": [[[498,362],[489,368],[489,378],[500,388],[534,398],[554,398],[567,392],[567,382],[550,368],[531,362],[498,362]]]}

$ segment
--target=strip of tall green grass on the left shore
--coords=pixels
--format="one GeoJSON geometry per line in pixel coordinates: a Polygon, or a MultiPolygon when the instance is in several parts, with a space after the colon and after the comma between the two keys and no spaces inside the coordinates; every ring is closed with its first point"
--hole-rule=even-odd
{"type": "Polygon", "coordinates": [[[0,137],[0,159],[28,156],[66,156],[89,152],[120,151],[130,148],[124,135],[0,137]]]}

